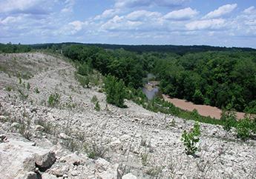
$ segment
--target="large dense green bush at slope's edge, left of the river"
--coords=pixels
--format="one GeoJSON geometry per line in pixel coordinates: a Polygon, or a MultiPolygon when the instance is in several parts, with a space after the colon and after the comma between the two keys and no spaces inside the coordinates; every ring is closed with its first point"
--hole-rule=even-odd
{"type": "Polygon", "coordinates": [[[122,80],[108,75],[105,78],[105,92],[107,94],[107,102],[114,104],[116,107],[125,107],[125,84],[122,80]]]}

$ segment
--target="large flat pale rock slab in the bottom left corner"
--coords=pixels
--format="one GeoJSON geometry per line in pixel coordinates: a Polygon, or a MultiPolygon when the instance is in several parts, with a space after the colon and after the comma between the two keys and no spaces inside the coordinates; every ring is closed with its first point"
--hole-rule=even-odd
{"type": "Polygon", "coordinates": [[[13,139],[0,143],[0,178],[27,178],[36,167],[50,168],[56,161],[55,153],[33,145],[13,139]]]}

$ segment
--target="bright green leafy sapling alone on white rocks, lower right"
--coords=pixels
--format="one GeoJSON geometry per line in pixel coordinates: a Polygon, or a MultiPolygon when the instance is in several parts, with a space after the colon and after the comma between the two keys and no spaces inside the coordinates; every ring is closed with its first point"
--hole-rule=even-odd
{"type": "Polygon", "coordinates": [[[197,142],[199,142],[200,136],[200,125],[196,122],[194,128],[191,129],[191,132],[183,132],[181,141],[183,141],[184,146],[186,147],[187,155],[194,155],[197,152],[197,142]]]}

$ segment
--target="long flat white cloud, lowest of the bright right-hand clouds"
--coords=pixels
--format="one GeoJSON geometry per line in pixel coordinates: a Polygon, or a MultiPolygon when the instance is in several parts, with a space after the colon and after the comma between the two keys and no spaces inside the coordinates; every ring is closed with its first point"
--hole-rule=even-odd
{"type": "Polygon", "coordinates": [[[209,20],[191,21],[186,24],[188,30],[218,30],[225,27],[223,18],[215,18],[209,20]]]}

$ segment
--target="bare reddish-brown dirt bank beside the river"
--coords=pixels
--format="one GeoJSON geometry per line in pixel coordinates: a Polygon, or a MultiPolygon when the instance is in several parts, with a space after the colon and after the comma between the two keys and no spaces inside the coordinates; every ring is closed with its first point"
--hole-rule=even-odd
{"type": "MultiPolygon", "coordinates": [[[[184,109],[187,111],[193,111],[194,109],[197,109],[197,112],[200,115],[203,116],[210,116],[211,118],[217,118],[220,119],[221,115],[221,109],[218,109],[217,107],[211,107],[208,105],[199,105],[199,104],[193,104],[191,102],[188,102],[183,99],[178,99],[178,98],[170,98],[168,95],[163,95],[163,98],[165,101],[169,101],[172,104],[174,104],[175,107],[179,107],[180,109],[184,109]]],[[[237,119],[244,118],[243,116],[245,113],[243,112],[236,112],[237,119]]]]}

